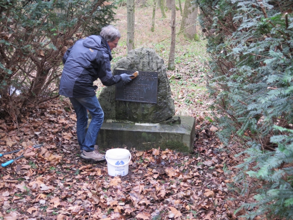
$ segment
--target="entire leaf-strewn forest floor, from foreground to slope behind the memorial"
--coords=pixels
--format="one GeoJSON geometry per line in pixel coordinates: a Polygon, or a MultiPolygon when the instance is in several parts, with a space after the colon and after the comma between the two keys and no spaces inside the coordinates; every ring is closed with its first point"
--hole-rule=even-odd
{"type": "MultiPolygon", "coordinates": [[[[153,48],[167,64],[170,40],[160,41],[170,36],[170,12],[161,19],[156,11],[154,33],[148,31],[151,14],[151,7],[136,9],[136,48],[153,48]]],[[[125,7],[118,7],[117,18],[122,38],[113,62],[126,56],[125,7]]],[[[177,11],[177,29],[180,22],[177,11]]],[[[176,114],[196,119],[194,153],[131,149],[128,175],[108,176],[105,161],[90,163],[79,157],[76,116],[69,100],[44,103],[18,125],[0,120],[0,153],[26,149],[25,158],[0,170],[0,219],[239,219],[243,212],[235,216],[233,211],[247,198],[227,187],[239,158],[214,135],[218,128],[212,125],[212,100],[206,89],[206,42],[176,38],[176,70],[167,74],[176,114]],[[41,149],[28,148],[38,143],[44,143],[41,149]]],[[[0,161],[21,153],[4,155],[0,161]]]]}

